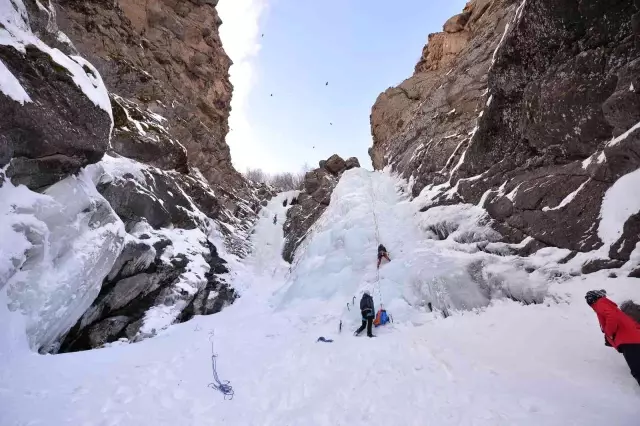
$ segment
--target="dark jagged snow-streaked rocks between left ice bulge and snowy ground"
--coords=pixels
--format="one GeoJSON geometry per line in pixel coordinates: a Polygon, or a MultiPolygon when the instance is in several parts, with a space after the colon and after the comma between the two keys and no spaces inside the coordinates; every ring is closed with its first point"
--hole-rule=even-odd
{"type": "Polygon", "coordinates": [[[105,156],[90,170],[123,220],[127,240],[62,351],[139,341],[233,303],[222,255],[241,257],[250,249],[257,200],[253,207],[238,200],[231,214],[203,179],[119,156],[105,156]]]}

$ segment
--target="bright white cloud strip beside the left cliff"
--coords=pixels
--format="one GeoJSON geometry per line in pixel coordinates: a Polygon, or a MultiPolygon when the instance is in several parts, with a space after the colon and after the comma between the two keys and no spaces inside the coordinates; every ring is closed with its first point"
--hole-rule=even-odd
{"type": "Polygon", "coordinates": [[[234,166],[268,168],[269,153],[258,142],[247,118],[247,100],[256,83],[255,60],[260,52],[260,18],[268,0],[220,0],[218,13],[224,22],[220,37],[225,51],[231,57],[230,70],[233,100],[227,143],[231,148],[234,166]],[[259,164],[261,163],[261,164],[259,164]]]}

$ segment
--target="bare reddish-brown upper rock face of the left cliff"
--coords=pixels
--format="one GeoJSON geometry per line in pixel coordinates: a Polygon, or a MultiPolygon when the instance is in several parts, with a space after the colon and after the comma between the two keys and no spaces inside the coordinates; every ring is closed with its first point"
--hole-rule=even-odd
{"type": "Polygon", "coordinates": [[[109,90],[168,119],[171,139],[212,183],[240,185],[228,133],[231,61],[214,1],[59,0],[58,23],[109,90]]]}

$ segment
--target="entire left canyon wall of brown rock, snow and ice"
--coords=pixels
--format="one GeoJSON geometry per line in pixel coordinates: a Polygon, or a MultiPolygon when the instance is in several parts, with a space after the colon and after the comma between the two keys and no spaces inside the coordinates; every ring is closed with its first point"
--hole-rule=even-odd
{"type": "Polygon", "coordinates": [[[43,352],[233,303],[224,257],[273,195],[230,163],[213,2],[57,6],[0,2],[0,289],[43,352]]]}

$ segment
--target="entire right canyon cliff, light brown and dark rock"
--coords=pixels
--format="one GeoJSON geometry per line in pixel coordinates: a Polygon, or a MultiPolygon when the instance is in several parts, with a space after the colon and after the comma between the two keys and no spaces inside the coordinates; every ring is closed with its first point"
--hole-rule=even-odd
{"type": "Polygon", "coordinates": [[[618,267],[640,212],[612,233],[600,219],[640,167],[639,66],[637,1],[472,1],[376,101],[374,166],[408,179],[425,211],[486,209],[521,254],[597,251],[584,272],[618,267]]]}

